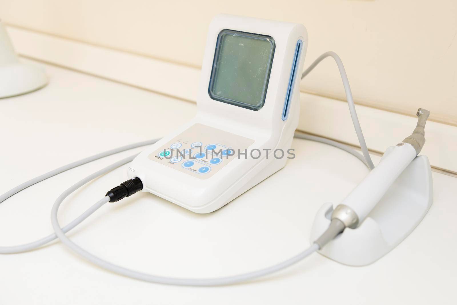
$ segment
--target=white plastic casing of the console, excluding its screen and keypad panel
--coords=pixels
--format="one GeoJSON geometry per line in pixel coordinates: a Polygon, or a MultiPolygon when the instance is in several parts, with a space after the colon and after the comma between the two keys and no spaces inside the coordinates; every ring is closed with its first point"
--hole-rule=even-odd
{"type": "Polygon", "coordinates": [[[214,17],[209,27],[203,58],[197,115],[139,154],[129,167],[128,177],[139,177],[143,182],[143,192],[153,193],[193,212],[209,213],[280,170],[286,164],[287,150],[291,147],[293,134],[298,125],[298,83],[301,79],[307,43],[308,34],[301,24],[232,15],[214,17]],[[216,42],[219,32],[224,29],[268,35],[275,40],[268,89],[265,103],[260,110],[254,111],[219,102],[208,94],[216,42]],[[303,44],[292,89],[289,115],[284,121],[282,112],[298,40],[303,44]],[[148,159],[148,155],[154,150],[196,123],[253,139],[254,143],[247,148],[248,151],[282,149],[286,152],[285,157],[266,158],[266,154],[262,154],[259,159],[253,159],[248,153],[246,159],[235,158],[205,180],[148,159]]]}

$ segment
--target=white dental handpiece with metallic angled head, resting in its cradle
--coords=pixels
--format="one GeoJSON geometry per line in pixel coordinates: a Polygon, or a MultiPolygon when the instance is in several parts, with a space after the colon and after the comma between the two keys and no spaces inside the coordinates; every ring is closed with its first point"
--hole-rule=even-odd
{"type": "Polygon", "coordinates": [[[355,229],[414,160],[425,144],[425,122],[430,112],[419,108],[418,122],[409,137],[397,144],[356,188],[334,209],[329,230],[315,242],[324,246],[345,228],[355,229]]]}

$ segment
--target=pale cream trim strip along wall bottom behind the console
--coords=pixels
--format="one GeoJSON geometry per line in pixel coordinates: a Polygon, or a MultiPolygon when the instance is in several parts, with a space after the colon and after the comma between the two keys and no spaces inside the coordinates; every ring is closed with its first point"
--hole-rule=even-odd
{"type": "MultiPolygon", "coordinates": [[[[196,68],[18,27],[9,26],[7,30],[21,56],[187,102],[196,100],[200,76],[196,68]]],[[[346,102],[302,92],[301,103],[298,129],[359,146],[346,102]]],[[[360,105],[356,108],[367,145],[378,153],[408,136],[416,124],[412,116],[360,105]]],[[[411,109],[411,114],[415,111],[411,109]]],[[[457,174],[457,127],[427,122],[425,130],[427,143],[421,154],[429,157],[434,168],[457,174]]]]}

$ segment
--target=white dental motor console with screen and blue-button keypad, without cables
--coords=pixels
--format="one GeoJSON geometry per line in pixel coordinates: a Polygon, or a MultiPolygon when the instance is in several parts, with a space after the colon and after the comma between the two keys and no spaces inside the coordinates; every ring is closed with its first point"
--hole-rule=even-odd
{"type": "Polygon", "coordinates": [[[284,167],[287,158],[273,152],[287,155],[291,148],[307,43],[300,24],[216,18],[209,27],[197,115],[139,154],[128,176],[140,178],[143,191],[208,213],[284,167]],[[268,158],[265,149],[271,149],[268,158]]]}

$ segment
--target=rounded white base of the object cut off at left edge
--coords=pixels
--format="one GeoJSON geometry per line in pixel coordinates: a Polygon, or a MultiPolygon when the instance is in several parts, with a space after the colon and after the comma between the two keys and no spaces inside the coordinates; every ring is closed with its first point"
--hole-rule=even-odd
{"type": "Polygon", "coordinates": [[[0,98],[29,93],[48,84],[44,70],[29,64],[12,63],[0,67],[0,98]]]}

